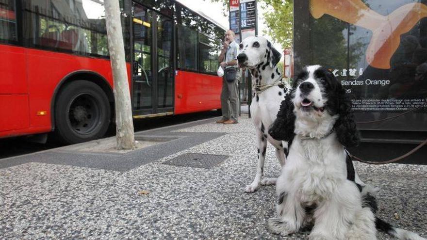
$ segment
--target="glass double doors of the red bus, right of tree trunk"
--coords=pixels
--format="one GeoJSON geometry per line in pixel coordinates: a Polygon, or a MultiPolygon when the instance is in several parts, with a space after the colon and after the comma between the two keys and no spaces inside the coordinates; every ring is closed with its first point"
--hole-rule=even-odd
{"type": "Polygon", "coordinates": [[[173,20],[133,3],[134,117],[173,113],[173,20]]]}

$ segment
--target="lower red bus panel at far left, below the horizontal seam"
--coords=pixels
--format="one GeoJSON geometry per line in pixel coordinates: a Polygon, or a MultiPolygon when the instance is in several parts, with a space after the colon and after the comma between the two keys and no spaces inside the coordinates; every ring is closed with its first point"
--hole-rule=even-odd
{"type": "Polygon", "coordinates": [[[0,132],[28,128],[29,125],[28,95],[0,94],[0,132]]]}

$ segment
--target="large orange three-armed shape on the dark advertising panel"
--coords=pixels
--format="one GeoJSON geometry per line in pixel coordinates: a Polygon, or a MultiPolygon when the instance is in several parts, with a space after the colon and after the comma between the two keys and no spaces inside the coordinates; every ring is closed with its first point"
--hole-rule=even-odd
{"type": "Polygon", "coordinates": [[[311,0],[310,13],[316,19],[327,14],[372,31],[365,53],[366,61],[373,67],[389,69],[390,60],[399,47],[400,36],[427,17],[427,5],[408,3],[384,16],[361,0],[311,0]]]}

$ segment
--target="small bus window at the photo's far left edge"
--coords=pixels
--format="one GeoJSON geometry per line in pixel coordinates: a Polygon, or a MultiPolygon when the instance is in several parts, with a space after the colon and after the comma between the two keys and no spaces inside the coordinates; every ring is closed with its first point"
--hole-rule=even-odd
{"type": "Polygon", "coordinates": [[[17,41],[15,0],[0,0],[0,40],[17,41]]]}

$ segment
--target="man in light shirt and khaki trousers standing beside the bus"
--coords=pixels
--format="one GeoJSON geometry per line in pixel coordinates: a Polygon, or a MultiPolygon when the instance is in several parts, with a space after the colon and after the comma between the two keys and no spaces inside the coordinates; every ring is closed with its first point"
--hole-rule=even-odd
{"type": "Polygon", "coordinates": [[[226,80],[226,76],[222,78],[222,92],[221,92],[221,108],[222,108],[222,119],[216,121],[216,123],[223,124],[234,124],[238,123],[239,117],[239,80],[242,76],[237,66],[237,55],[239,45],[234,42],[234,32],[227,30],[225,32],[224,45],[221,48],[218,62],[226,69],[230,67],[236,68],[236,78],[230,82],[226,80]]]}

